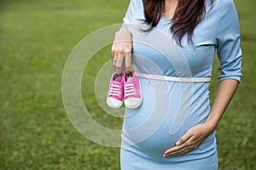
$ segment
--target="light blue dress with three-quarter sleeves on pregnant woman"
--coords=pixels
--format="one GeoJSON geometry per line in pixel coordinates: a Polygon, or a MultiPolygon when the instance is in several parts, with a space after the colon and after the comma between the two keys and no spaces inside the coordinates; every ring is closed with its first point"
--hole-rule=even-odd
{"type": "MultiPolygon", "coordinates": [[[[193,44],[183,37],[177,46],[169,31],[172,21],[161,17],[153,31],[143,23],[143,1],[131,0],[122,29],[131,31],[134,70],[166,77],[211,77],[217,51],[224,79],[241,79],[241,48],[236,7],[232,0],[216,0],[195,27],[193,44]]],[[[189,128],[206,121],[211,110],[209,82],[172,82],[138,77],[143,103],[125,108],[120,150],[123,170],[216,170],[215,132],[184,156],[163,158],[189,128]]]]}

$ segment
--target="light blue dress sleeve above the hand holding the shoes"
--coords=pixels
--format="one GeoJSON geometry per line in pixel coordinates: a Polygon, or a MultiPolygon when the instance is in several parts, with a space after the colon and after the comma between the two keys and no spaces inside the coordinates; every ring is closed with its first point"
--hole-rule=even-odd
{"type": "Polygon", "coordinates": [[[121,29],[127,29],[129,24],[136,24],[138,19],[142,18],[143,2],[142,0],[131,0],[129,7],[123,18],[123,25],[121,29]]]}

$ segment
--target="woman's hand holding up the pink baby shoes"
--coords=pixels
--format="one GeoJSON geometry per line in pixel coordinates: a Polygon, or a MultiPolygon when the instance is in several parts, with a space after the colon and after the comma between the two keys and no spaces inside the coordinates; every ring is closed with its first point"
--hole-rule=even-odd
{"type": "Polygon", "coordinates": [[[113,69],[120,74],[124,71],[123,65],[125,64],[125,71],[131,71],[131,48],[132,37],[131,32],[128,30],[120,30],[115,33],[111,58],[113,69]],[[125,60],[125,63],[123,63],[125,60]]]}

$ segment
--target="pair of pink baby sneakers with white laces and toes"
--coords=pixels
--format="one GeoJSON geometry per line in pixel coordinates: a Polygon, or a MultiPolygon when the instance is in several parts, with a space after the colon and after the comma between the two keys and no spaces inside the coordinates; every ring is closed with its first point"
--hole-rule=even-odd
{"type": "Polygon", "coordinates": [[[142,92],[140,82],[134,72],[129,74],[113,73],[108,88],[107,104],[110,108],[119,108],[125,102],[125,106],[135,109],[142,104],[142,92]]]}

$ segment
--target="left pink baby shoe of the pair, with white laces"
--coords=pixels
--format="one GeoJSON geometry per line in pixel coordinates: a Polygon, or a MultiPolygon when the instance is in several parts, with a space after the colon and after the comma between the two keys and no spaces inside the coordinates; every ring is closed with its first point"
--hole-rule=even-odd
{"type": "Polygon", "coordinates": [[[109,107],[116,109],[123,105],[124,99],[124,80],[123,74],[113,73],[108,88],[107,104],[109,107]]]}

